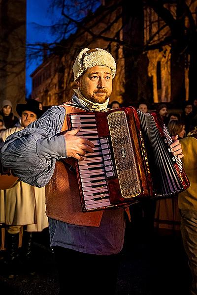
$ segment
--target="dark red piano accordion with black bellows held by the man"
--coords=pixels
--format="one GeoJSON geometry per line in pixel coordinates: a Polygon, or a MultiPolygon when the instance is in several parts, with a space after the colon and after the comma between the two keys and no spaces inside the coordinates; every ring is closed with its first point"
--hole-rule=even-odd
{"type": "Polygon", "coordinates": [[[190,185],[173,156],[166,126],[157,113],[134,107],[67,114],[69,129],[90,140],[94,153],[76,161],[84,212],[129,206],[144,198],[171,197],[190,185]]]}

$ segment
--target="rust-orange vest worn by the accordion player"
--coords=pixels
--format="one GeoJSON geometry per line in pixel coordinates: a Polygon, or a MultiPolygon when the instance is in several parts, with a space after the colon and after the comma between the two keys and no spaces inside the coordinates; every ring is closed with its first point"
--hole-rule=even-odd
{"type": "MultiPolygon", "coordinates": [[[[62,107],[65,108],[66,114],[86,112],[66,104],[62,107]]],[[[65,116],[61,131],[66,130],[65,116]]],[[[56,161],[54,174],[46,185],[46,214],[50,218],[69,224],[99,227],[103,210],[83,212],[81,209],[77,176],[69,170],[70,166],[75,167],[75,161],[72,157],[56,161]]],[[[129,208],[126,211],[130,218],[129,208]]]]}

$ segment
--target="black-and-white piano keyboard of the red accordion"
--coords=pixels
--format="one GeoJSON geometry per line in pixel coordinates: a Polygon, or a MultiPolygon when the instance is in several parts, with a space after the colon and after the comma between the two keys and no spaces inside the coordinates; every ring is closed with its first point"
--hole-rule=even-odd
{"type": "Polygon", "coordinates": [[[107,177],[115,175],[107,138],[99,139],[95,115],[72,115],[72,128],[80,127],[77,136],[90,140],[94,153],[86,153],[78,162],[82,193],[86,209],[110,206],[107,177]]]}

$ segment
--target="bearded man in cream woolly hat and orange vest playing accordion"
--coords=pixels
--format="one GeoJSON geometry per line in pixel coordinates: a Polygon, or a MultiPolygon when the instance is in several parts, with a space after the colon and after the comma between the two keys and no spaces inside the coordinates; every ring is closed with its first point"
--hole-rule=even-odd
{"type": "MultiPolygon", "coordinates": [[[[5,169],[12,169],[23,181],[38,187],[46,185],[46,214],[60,294],[69,293],[74,286],[76,294],[102,294],[104,290],[104,293],[112,295],[115,294],[124,243],[125,211],[129,213],[129,210],[119,207],[82,211],[75,161],[83,164],[82,161],[88,159],[86,155],[99,161],[99,151],[94,145],[97,141],[77,136],[80,135],[80,127],[67,131],[66,114],[85,115],[86,112],[106,110],[116,62],[104,49],[84,48],[74,61],[73,73],[78,89],[74,89],[71,100],[47,110],[30,128],[28,126],[19,132],[17,138],[9,137],[1,149],[1,162],[5,169]],[[24,163],[25,169],[20,169],[19,161],[24,163]],[[101,279],[99,283],[98,278],[101,279]]],[[[173,148],[182,157],[177,140],[173,148]]],[[[84,168],[87,168],[86,176],[89,178],[89,168],[84,168]]],[[[88,188],[85,188],[88,196],[97,187],[99,190],[97,181],[102,174],[99,170],[97,173],[98,179],[91,177],[90,183],[84,185],[88,188]]]]}

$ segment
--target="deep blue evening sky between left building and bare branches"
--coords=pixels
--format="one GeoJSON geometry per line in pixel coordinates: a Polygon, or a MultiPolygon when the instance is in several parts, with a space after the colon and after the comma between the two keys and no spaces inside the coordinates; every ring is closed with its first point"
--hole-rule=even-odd
{"type": "MultiPolygon", "coordinates": [[[[61,22],[64,20],[64,17],[61,16],[61,8],[50,9],[51,2],[52,0],[27,0],[27,44],[52,43],[57,40],[58,31],[56,34],[52,34],[50,26],[59,23],[59,21],[61,22]]],[[[75,6],[75,10],[73,10],[73,7],[71,8],[72,17],[77,19],[83,18],[85,15],[82,10],[79,13],[78,5],[76,5],[77,2],[66,0],[66,4],[69,4],[69,2],[75,6]]],[[[92,7],[92,10],[95,10],[100,3],[99,0],[95,0],[93,3],[94,8],[92,7]]],[[[84,5],[86,5],[86,1],[84,1],[84,5]]],[[[32,78],[30,75],[42,63],[42,51],[40,51],[39,57],[31,59],[28,52],[29,50],[27,49],[26,96],[29,96],[32,92],[32,78]]]]}

